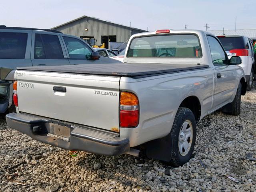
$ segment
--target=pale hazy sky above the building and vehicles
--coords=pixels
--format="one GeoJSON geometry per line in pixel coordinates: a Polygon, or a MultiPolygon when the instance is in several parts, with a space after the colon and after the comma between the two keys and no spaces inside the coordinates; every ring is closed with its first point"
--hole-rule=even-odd
{"type": "Polygon", "coordinates": [[[0,0],[0,24],[52,28],[81,16],[134,28],[256,28],[255,0],[0,0]]]}

